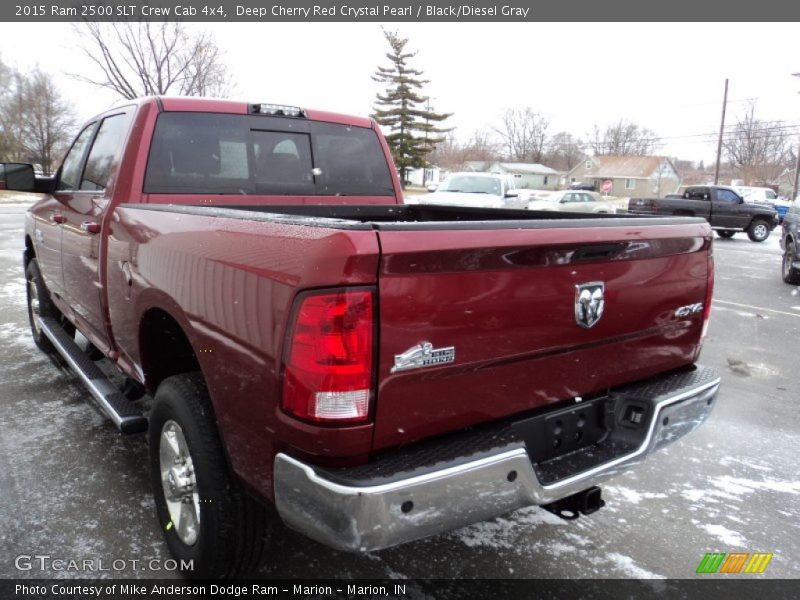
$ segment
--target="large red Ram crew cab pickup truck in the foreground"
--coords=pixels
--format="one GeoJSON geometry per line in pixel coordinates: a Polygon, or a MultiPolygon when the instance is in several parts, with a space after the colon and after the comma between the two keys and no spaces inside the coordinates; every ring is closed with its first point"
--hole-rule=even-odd
{"type": "Polygon", "coordinates": [[[350,551],[588,514],[713,406],[701,218],[404,205],[369,119],[186,98],[92,119],[31,188],[35,341],[147,431],[195,575],[258,566],[269,507],[350,551]]]}

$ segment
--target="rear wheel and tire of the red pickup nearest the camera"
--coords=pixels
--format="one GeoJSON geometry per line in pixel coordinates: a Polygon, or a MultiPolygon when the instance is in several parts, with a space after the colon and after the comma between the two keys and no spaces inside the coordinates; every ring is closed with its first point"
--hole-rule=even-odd
{"type": "Polygon", "coordinates": [[[148,442],[156,513],[178,567],[193,578],[254,572],[267,514],[231,477],[200,373],[161,382],[148,442]]]}

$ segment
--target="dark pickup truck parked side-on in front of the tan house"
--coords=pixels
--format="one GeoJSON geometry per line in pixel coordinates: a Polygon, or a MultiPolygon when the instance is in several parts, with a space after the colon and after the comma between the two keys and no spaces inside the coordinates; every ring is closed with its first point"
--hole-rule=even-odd
{"type": "Polygon", "coordinates": [[[754,242],[766,240],[778,225],[778,213],[772,206],[745,202],[735,190],[720,185],[688,187],[678,197],[631,198],[628,212],[703,217],[720,237],[745,231],[754,242]]]}

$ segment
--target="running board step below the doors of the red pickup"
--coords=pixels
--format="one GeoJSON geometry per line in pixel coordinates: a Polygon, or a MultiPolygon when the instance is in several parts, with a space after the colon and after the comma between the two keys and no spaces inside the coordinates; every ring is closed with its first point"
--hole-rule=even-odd
{"type": "Polygon", "coordinates": [[[133,402],[128,400],[105,376],[92,359],[80,349],[58,321],[51,317],[39,319],[42,332],[58,353],[81,378],[106,415],[121,433],[141,433],[147,430],[147,419],[133,402]]]}

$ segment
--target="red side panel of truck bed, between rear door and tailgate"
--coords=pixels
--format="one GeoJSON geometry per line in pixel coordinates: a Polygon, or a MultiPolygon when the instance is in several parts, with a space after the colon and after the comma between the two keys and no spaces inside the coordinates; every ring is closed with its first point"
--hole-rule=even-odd
{"type": "Polygon", "coordinates": [[[279,374],[298,291],[371,285],[377,265],[372,231],[122,206],[109,236],[111,323],[122,359],[141,372],[143,315],[159,308],[179,322],[206,377],[234,471],[270,498],[272,458],[287,445],[323,461],[369,452],[371,425],[287,425],[278,407],[279,374]]]}

